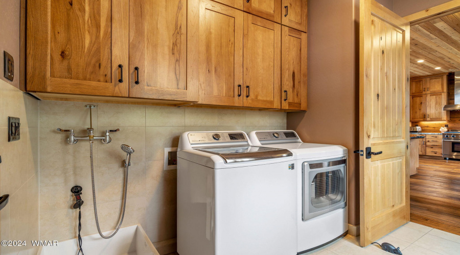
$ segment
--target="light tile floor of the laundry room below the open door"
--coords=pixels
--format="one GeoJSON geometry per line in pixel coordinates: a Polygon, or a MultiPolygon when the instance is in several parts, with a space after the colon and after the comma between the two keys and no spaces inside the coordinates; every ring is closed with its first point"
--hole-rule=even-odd
{"type": "MultiPolygon", "coordinates": [[[[399,227],[377,241],[400,247],[403,255],[460,255],[460,236],[413,222],[399,227]]],[[[359,246],[359,237],[346,236],[306,255],[388,255],[378,245],[359,246]]]]}

